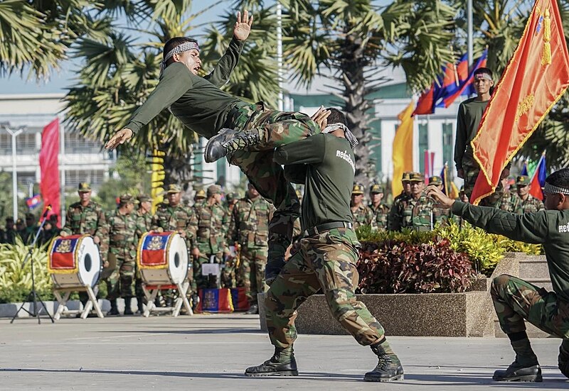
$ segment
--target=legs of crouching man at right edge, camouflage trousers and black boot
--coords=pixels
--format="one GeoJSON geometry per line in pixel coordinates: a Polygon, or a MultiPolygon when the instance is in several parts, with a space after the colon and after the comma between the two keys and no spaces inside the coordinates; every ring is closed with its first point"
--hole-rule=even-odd
{"type": "Polygon", "coordinates": [[[547,333],[564,338],[559,353],[559,369],[569,375],[569,305],[547,292],[511,275],[494,278],[491,297],[500,327],[510,338],[516,359],[506,370],[496,370],[494,380],[541,382],[541,368],[531,348],[526,324],[537,326],[547,333]]]}

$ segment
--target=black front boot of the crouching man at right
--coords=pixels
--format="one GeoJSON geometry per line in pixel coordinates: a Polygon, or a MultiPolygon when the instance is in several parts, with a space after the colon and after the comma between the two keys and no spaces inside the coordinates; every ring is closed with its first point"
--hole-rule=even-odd
{"type": "Polygon", "coordinates": [[[516,360],[507,369],[494,372],[492,379],[497,382],[541,382],[541,368],[536,353],[533,353],[528,338],[510,341],[516,352],[516,360]]]}

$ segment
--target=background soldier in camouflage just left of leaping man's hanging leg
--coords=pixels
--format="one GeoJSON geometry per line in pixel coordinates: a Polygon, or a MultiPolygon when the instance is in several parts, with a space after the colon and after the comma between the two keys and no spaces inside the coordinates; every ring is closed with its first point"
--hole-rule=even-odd
{"type": "Polygon", "coordinates": [[[233,213],[228,230],[229,243],[241,246],[238,286],[245,287],[250,303],[246,314],[258,314],[257,293],[265,292],[265,265],[269,245],[269,221],[274,207],[263,199],[249,183],[248,192],[240,199],[233,213]]]}

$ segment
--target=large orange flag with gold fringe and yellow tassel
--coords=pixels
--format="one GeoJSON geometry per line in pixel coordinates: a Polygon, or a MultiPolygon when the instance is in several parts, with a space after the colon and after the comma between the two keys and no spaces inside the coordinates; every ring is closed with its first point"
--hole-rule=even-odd
{"type": "Polygon", "coordinates": [[[557,1],[536,0],[471,143],[480,165],[472,204],[494,192],[504,167],[568,85],[569,54],[557,1]]]}

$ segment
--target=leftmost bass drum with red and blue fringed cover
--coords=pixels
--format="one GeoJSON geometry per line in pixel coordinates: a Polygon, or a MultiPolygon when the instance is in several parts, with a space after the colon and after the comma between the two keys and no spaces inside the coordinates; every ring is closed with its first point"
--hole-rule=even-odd
{"type": "Polygon", "coordinates": [[[102,262],[99,248],[88,235],[58,236],[49,247],[48,272],[55,288],[94,287],[102,262]]]}

